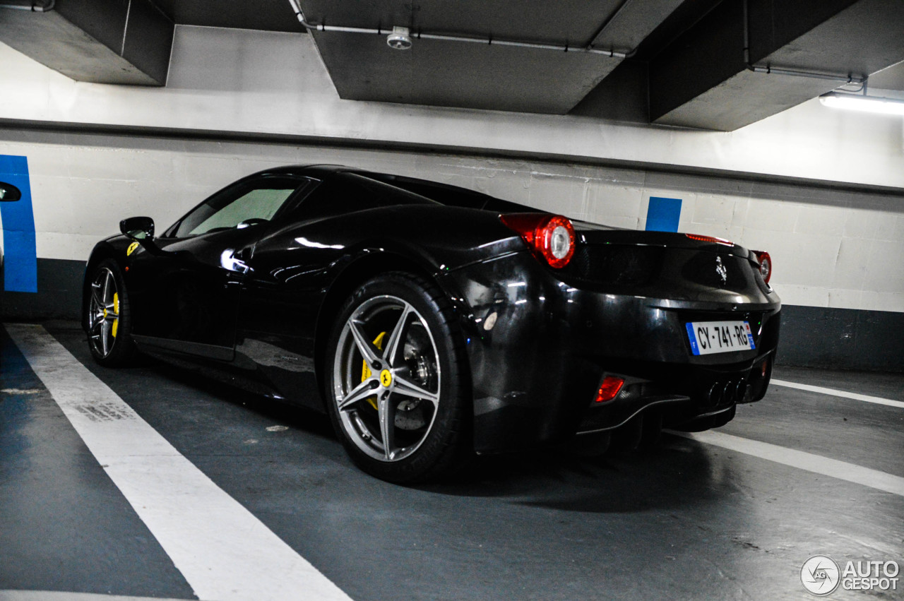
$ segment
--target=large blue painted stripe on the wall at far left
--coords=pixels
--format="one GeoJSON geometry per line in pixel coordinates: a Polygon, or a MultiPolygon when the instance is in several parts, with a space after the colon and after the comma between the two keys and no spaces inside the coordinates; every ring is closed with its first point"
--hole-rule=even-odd
{"type": "Polygon", "coordinates": [[[0,182],[12,183],[22,191],[20,200],[0,202],[4,290],[37,292],[38,254],[34,242],[34,211],[28,160],[24,156],[0,155],[0,182]]]}

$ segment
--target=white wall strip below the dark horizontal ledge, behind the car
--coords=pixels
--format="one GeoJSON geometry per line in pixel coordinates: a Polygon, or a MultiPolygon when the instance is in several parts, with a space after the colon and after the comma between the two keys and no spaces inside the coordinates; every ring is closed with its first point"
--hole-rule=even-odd
{"type": "Polygon", "coordinates": [[[0,131],[28,157],[37,255],[88,258],[126,216],[161,228],[241,175],[352,164],[453,183],[575,219],[645,229],[651,196],[682,199],[679,230],[768,250],[788,305],[904,312],[904,193],[869,193],[583,164],[329,146],[0,131]]]}

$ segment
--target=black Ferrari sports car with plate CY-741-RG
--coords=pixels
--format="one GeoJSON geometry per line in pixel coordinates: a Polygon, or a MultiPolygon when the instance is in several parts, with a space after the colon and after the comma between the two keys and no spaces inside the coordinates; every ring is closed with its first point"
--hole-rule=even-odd
{"type": "Polygon", "coordinates": [[[341,166],[231,184],[89,258],[94,358],[141,351],[329,414],[363,470],[605,446],[728,422],[766,393],[780,302],[766,253],[573,222],[341,166]]]}

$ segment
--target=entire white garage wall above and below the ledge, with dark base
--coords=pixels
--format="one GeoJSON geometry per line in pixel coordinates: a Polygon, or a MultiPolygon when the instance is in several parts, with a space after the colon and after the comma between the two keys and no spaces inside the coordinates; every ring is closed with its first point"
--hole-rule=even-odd
{"type": "Polygon", "coordinates": [[[787,357],[904,368],[883,337],[904,326],[900,117],[807,103],[724,134],[356,103],[304,35],[193,27],[166,89],[75,83],[2,45],[0,87],[0,155],[28,159],[39,258],[39,294],[3,294],[5,316],[71,315],[80,262],[125,216],[162,227],[241,175],[339,163],[626,228],[651,196],[682,199],[679,230],[771,253],[796,307],[787,357]]]}

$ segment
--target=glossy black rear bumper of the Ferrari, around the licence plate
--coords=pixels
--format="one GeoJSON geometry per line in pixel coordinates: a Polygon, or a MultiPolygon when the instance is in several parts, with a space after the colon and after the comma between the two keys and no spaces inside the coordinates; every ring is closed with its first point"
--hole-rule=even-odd
{"type": "Polygon", "coordinates": [[[692,427],[765,394],[778,343],[774,293],[654,298],[579,289],[558,275],[527,252],[447,273],[467,336],[478,452],[605,431],[648,410],[692,427]],[[721,320],[749,321],[756,350],[694,356],[685,324],[721,320]],[[626,386],[596,403],[607,375],[626,386]]]}

